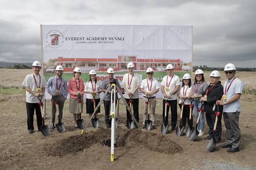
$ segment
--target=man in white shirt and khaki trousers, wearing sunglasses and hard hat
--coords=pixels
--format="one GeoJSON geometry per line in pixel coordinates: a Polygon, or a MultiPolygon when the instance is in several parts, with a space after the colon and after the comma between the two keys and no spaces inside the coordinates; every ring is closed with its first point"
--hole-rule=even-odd
{"type": "Polygon", "coordinates": [[[156,120],[156,93],[159,91],[159,85],[158,81],[156,79],[153,79],[153,69],[147,68],[146,70],[147,78],[142,80],[140,90],[143,92],[143,103],[144,103],[144,111],[143,111],[143,125],[145,125],[145,121],[147,120],[147,114],[148,114],[148,101],[151,104],[150,109],[150,120],[152,121],[152,125],[155,126],[155,120],[156,120]]]}

